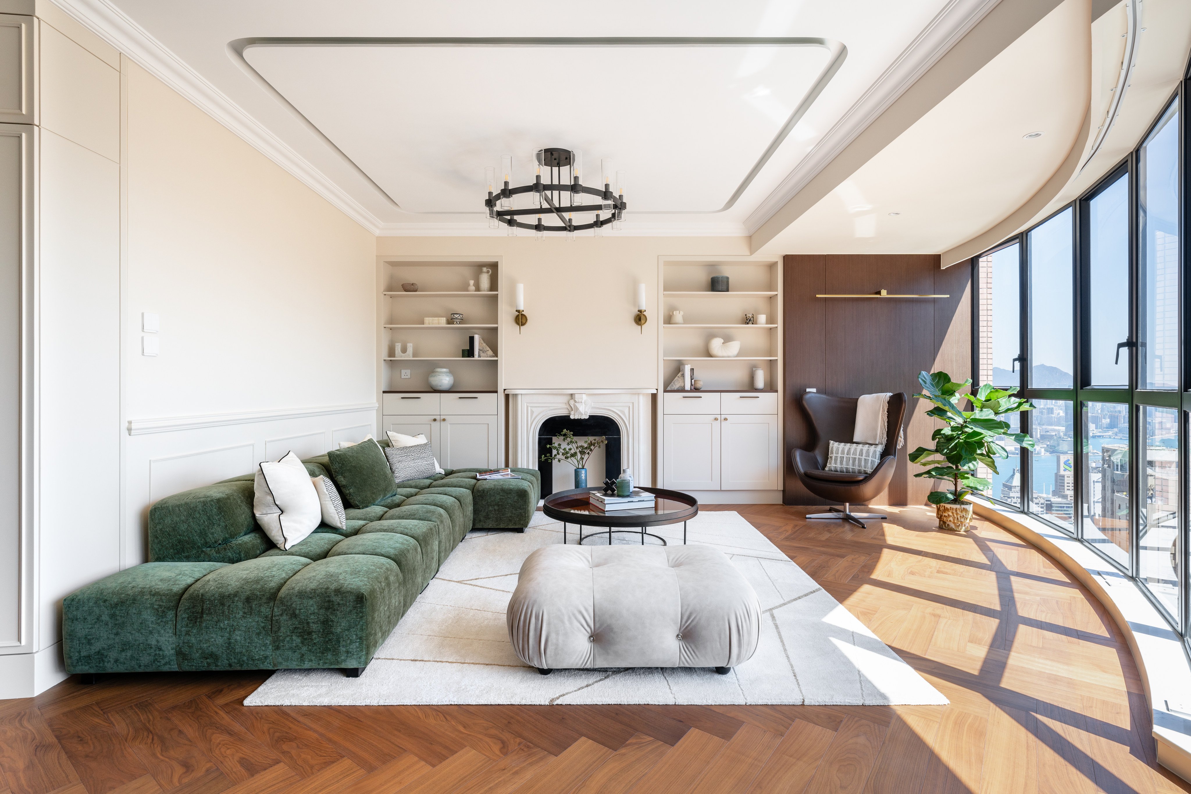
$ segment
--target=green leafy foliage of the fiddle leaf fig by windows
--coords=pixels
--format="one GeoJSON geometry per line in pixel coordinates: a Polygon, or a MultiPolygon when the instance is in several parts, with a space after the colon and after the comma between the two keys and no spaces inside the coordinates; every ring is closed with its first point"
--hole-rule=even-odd
{"type": "Polygon", "coordinates": [[[956,383],[947,373],[918,373],[918,382],[922,383],[922,393],[915,396],[933,402],[935,407],[927,415],[941,419],[944,426],[931,433],[934,448],[919,446],[910,452],[911,463],[927,467],[925,471],[913,476],[952,481],[949,489],[933,490],[927,496],[931,505],[962,502],[973,490],[991,488],[991,482],[977,476],[977,465],[983,463],[993,474],[999,474],[997,458],[1009,457],[1009,450],[1000,439],[1008,438],[1018,446],[1034,449],[1034,439],[1029,434],[1009,432],[1010,424],[1002,418],[1034,409],[1029,400],[1014,396],[1016,386],[998,389],[985,383],[972,392],[971,377],[956,383]],[[964,387],[969,387],[967,394],[960,392],[964,387]],[[972,411],[960,408],[964,400],[971,404],[972,411]]]}

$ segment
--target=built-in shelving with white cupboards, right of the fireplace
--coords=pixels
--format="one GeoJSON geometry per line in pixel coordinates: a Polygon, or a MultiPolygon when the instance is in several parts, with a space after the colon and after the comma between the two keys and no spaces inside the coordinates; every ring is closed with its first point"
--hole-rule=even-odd
{"type": "Polygon", "coordinates": [[[661,257],[659,281],[659,386],[666,389],[682,365],[703,381],[700,390],[662,392],[662,487],[707,504],[780,502],[781,261],[661,257]],[[711,290],[718,275],[729,277],[728,292],[711,290]],[[755,321],[746,323],[747,314],[755,321]],[[717,337],[740,342],[738,355],[711,356],[707,343],[717,337]],[[754,368],[763,373],[762,389],[752,388],[754,368]]]}

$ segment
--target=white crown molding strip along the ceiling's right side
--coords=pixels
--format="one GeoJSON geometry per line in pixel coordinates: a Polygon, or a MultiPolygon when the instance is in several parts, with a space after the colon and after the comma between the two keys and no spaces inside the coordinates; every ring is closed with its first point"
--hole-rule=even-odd
{"type": "Polygon", "coordinates": [[[794,170],[744,219],[753,235],[819,171],[828,167],[856,137],[880,118],[922,75],[992,11],[1000,0],[950,0],[888,69],[828,130],[794,170]]]}

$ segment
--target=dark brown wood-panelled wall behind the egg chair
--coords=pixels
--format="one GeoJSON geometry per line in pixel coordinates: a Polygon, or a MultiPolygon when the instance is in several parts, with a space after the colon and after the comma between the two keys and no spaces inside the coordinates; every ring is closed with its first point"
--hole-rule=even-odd
{"type": "MultiPolygon", "coordinates": [[[[807,388],[836,396],[874,392],[917,393],[918,373],[944,370],[962,381],[972,370],[972,269],[940,269],[934,255],[786,256],[785,295],[785,482],[787,505],[823,505],[794,476],[791,450],[813,437],[800,395],[807,388]],[[946,294],[949,298],[816,298],[825,293],[946,294]]],[[[888,490],[874,504],[922,505],[931,489],[915,479],[910,450],[929,444],[935,420],[929,406],[910,400],[905,445],[888,490]]],[[[852,440],[836,439],[836,440],[852,440]]]]}

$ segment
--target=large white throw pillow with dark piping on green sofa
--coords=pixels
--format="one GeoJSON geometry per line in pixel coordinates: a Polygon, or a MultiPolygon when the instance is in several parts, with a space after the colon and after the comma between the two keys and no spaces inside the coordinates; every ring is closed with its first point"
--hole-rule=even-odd
{"type": "Polygon", "coordinates": [[[292,451],[280,461],[256,468],[252,513],[257,524],[280,549],[294,545],[313,532],[323,519],[318,492],[310,473],[292,451]]]}

